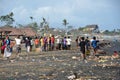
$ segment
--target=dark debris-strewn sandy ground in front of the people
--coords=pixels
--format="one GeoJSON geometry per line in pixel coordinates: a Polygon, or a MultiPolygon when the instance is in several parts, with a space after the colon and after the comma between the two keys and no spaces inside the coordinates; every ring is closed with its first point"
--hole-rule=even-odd
{"type": "Polygon", "coordinates": [[[111,58],[114,50],[120,51],[119,42],[101,48],[107,52],[99,58],[80,57],[79,49],[25,52],[16,58],[12,54],[10,61],[0,56],[0,80],[68,80],[68,76],[77,75],[74,80],[120,80],[120,58],[111,58]]]}

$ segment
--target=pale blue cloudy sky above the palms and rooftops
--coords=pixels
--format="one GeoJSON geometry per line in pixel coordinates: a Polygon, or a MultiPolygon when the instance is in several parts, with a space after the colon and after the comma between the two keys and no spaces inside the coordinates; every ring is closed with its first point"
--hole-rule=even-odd
{"type": "Polygon", "coordinates": [[[46,18],[51,27],[63,27],[66,19],[75,28],[98,24],[101,30],[120,29],[120,0],[0,0],[0,16],[10,12],[15,24],[28,24],[33,16],[38,24],[46,18]]]}

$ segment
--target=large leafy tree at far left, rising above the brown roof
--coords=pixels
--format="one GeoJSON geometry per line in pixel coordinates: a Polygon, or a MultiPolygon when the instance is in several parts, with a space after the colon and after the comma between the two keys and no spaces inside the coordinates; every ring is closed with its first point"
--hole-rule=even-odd
{"type": "Polygon", "coordinates": [[[11,26],[11,24],[13,24],[13,22],[15,21],[13,16],[14,16],[13,12],[11,12],[7,15],[0,16],[0,21],[5,23],[5,25],[7,25],[7,26],[11,26]]]}

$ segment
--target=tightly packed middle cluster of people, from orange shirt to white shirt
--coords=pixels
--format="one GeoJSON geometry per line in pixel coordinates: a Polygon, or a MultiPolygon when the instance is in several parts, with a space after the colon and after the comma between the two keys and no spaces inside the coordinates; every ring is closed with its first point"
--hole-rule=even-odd
{"type": "Polygon", "coordinates": [[[68,50],[71,48],[70,37],[57,38],[52,35],[51,37],[36,37],[34,40],[35,48],[40,48],[40,51],[53,51],[53,50],[68,50]]]}

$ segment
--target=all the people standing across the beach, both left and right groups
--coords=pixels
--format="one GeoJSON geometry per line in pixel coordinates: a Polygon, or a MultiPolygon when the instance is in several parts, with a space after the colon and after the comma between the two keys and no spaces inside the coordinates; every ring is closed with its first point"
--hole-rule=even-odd
{"type": "MultiPolygon", "coordinates": [[[[93,37],[92,40],[89,40],[88,37],[77,37],[74,41],[76,41],[77,48],[80,48],[83,60],[86,60],[86,53],[90,53],[91,47],[94,50],[94,55],[96,54],[96,51],[98,49],[97,43],[99,42],[98,40],[96,40],[96,37],[93,37]]],[[[9,36],[6,36],[5,39],[3,38],[1,40],[1,54],[4,57],[9,58],[11,56],[11,53],[13,52],[13,47],[15,47],[16,55],[19,56],[22,50],[23,43],[25,44],[27,53],[31,52],[33,50],[33,47],[35,49],[39,48],[40,51],[70,50],[72,39],[70,38],[70,36],[55,37],[54,35],[49,37],[41,36],[35,38],[21,38],[20,36],[17,36],[13,41],[11,41],[9,36]]]]}

